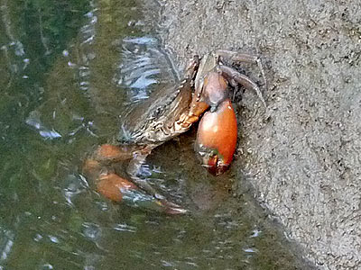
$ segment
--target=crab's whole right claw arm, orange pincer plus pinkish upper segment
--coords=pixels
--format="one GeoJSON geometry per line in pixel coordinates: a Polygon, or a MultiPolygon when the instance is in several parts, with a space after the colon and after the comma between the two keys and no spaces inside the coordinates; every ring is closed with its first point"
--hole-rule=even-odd
{"type": "Polygon", "coordinates": [[[236,114],[228,98],[228,81],[217,71],[211,70],[204,76],[196,92],[199,92],[199,100],[193,99],[196,103],[194,107],[210,107],[210,110],[204,113],[199,122],[195,148],[202,165],[211,174],[220,175],[233,159],[237,139],[236,114]]]}

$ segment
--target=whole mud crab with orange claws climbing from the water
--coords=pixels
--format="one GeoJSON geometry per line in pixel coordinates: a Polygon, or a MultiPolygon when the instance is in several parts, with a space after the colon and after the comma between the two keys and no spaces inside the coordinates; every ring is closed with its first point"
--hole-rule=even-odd
{"type": "Polygon", "coordinates": [[[228,97],[228,84],[254,90],[262,103],[264,98],[258,85],[225,65],[224,59],[255,63],[264,76],[260,59],[255,56],[225,49],[208,53],[200,60],[195,56],[180,86],[163,89],[128,112],[121,124],[118,145],[102,145],[86,160],[84,171],[94,178],[98,193],[116,202],[125,196],[150,196],[166,212],[185,212],[167,201],[138,173],[153,148],[189,130],[203,113],[195,148],[203,166],[211,173],[218,175],[227,169],[236,149],[237,136],[236,114],[228,97]],[[112,168],[125,160],[129,160],[125,175],[130,181],[117,175],[112,168]]]}

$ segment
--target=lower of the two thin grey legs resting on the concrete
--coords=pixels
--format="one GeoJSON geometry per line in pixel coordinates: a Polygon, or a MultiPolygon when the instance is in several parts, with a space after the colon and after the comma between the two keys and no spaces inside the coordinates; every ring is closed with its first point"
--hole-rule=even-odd
{"type": "Polygon", "coordinates": [[[227,76],[229,79],[235,80],[238,84],[245,86],[246,89],[255,91],[255,94],[257,94],[258,98],[264,104],[264,107],[266,107],[264,102],[264,95],[262,94],[260,88],[248,76],[239,73],[232,67],[227,67],[224,65],[219,65],[218,70],[222,73],[222,75],[227,76]]]}

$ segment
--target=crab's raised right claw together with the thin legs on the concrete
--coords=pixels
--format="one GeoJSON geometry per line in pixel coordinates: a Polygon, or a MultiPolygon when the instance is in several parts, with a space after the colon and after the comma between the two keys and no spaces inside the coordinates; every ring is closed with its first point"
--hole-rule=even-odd
{"type": "Polygon", "coordinates": [[[199,152],[202,165],[207,166],[208,171],[214,175],[227,170],[236,150],[236,113],[228,98],[228,84],[243,85],[245,89],[255,91],[264,107],[266,106],[258,85],[248,76],[239,73],[235,67],[227,65],[227,62],[257,64],[264,76],[260,58],[252,55],[218,49],[201,59],[189,115],[199,118],[202,111],[210,107],[199,123],[195,148],[199,152]]]}

